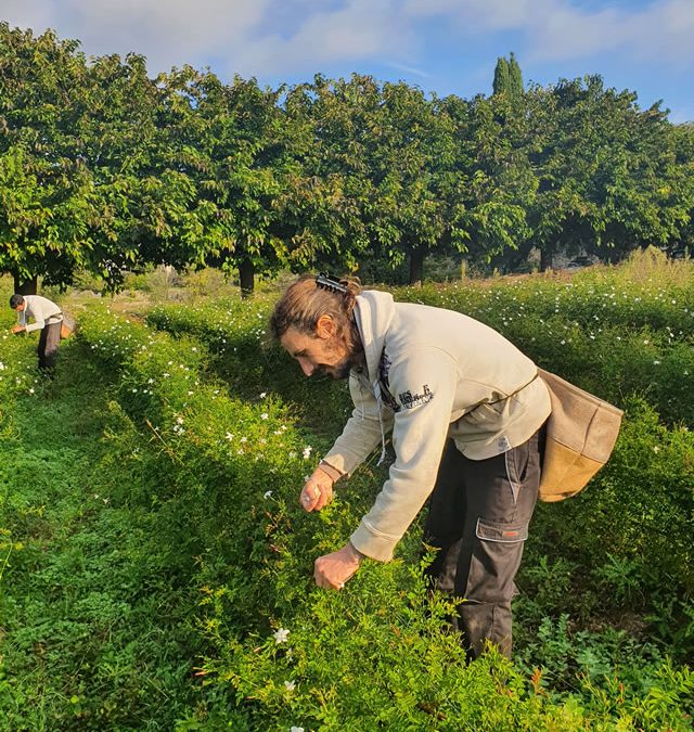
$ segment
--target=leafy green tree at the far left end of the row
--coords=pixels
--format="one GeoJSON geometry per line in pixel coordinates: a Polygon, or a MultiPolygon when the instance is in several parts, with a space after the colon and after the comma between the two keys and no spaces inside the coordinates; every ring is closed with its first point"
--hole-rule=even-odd
{"type": "Polygon", "coordinates": [[[38,277],[69,282],[93,245],[93,181],[75,132],[78,47],[0,24],[0,270],[25,294],[38,277]]]}

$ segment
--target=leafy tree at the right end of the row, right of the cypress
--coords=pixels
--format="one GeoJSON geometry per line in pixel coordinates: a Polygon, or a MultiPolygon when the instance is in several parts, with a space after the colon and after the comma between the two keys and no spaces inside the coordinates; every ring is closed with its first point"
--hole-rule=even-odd
{"type": "Polygon", "coordinates": [[[542,269],[562,247],[617,260],[678,234],[687,184],[657,105],[642,112],[634,93],[606,90],[599,76],[535,89],[530,98],[538,191],[528,216],[542,269]]]}

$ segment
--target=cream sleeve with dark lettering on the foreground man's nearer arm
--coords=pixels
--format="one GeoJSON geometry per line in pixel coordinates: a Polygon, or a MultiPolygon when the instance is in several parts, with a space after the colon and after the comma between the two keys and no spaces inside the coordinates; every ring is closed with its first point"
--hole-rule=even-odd
{"type": "Polygon", "coordinates": [[[351,535],[362,554],[381,562],[393,551],[434,488],[448,435],[458,371],[437,348],[417,350],[390,369],[390,390],[399,406],[393,445],[396,459],[369,513],[351,535]]]}

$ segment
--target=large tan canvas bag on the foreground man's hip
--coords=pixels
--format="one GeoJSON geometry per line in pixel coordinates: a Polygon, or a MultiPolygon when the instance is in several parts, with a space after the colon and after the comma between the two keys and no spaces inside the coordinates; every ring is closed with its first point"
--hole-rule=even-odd
{"type": "Polygon", "coordinates": [[[538,497],[562,501],[582,490],[607,462],[624,412],[549,371],[538,369],[538,374],[552,401],[538,497]]]}

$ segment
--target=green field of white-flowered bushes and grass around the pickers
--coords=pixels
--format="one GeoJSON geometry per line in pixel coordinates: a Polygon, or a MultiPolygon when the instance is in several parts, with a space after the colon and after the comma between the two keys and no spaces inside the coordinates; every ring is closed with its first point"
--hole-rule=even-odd
{"type": "Polygon", "coordinates": [[[626,410],[588,489],[536,512],[513,663],[471,666],[425,592],[417,526],[344,592],[313,587],[383,468],[304,514],[346,386],[268,343],[272,287],[192,285],[59,295],[79,332],[51,383],[36,339],[0,336],[1,730],[692,728],[690,262],[395,291],[626,410]]]}

